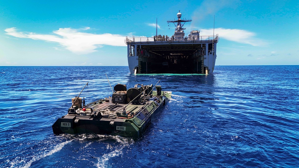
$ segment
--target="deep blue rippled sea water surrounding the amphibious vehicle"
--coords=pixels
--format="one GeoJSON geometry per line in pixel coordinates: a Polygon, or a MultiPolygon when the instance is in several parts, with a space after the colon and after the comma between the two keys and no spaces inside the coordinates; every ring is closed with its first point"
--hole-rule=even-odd
{"type": "Polygon", "coordinates": [[[299,66],[132,75],[126,66],[0,67],[0,167],[299,167],[299,66]],[[71,98],[156,84],[172,98],[138,139],[53,135],[71,98]]]}

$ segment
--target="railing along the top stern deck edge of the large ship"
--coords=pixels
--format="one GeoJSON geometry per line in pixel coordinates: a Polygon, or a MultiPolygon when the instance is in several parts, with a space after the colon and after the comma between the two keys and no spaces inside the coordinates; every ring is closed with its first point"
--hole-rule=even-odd
{"type": "Polygon", "coordinates": [[[218,34],[214,36],[154,36],[154,37],[126,37],[125,43],[190,43],[190,42],[218,42],[218,34]]]}

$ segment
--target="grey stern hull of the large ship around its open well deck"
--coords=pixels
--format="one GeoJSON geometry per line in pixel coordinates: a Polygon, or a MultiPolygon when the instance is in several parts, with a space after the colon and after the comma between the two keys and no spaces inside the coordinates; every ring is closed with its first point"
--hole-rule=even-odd
{"type": "Polygon", "coordinates": [[[130,73],[212,74],[217,57],[217,38],[183,42],[179,40],[130,42],[127,39],[130,73]]]}

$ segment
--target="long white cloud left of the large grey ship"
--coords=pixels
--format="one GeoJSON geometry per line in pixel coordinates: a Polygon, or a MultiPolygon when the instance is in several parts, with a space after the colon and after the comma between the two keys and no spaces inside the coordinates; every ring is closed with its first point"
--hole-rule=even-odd
{"type": "Polygon", "coordinates": [[[59,30],[53,31],[56,35],[48,34],[36,34],[36,33],[23,33],[18,32],[16,28],[7,28],[8,35],[18,38],[28,38],[34,40],[44,40],[48,42],[57,42],[61,46],[66,47],[67,50],[72,51],[75,54],[89,54],[95,52],[96,48],[102,47],[102,45],[112,46],[126,46],[124,39],[125,36],[118,34],[92,34],[81,33],[78,30],[88,30],[89,27],[83,29],[72,28],[59,28],[59,30]]]}

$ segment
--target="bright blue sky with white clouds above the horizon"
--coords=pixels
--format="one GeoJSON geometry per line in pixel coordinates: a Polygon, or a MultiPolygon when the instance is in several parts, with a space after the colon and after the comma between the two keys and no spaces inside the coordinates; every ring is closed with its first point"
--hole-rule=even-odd
{"type": "Polygon", "coordinates": [[[299,1],[0,0],[0,66],[128,66],[128,37],[218,34],[216,65],[299,65],[299,1]]]}

